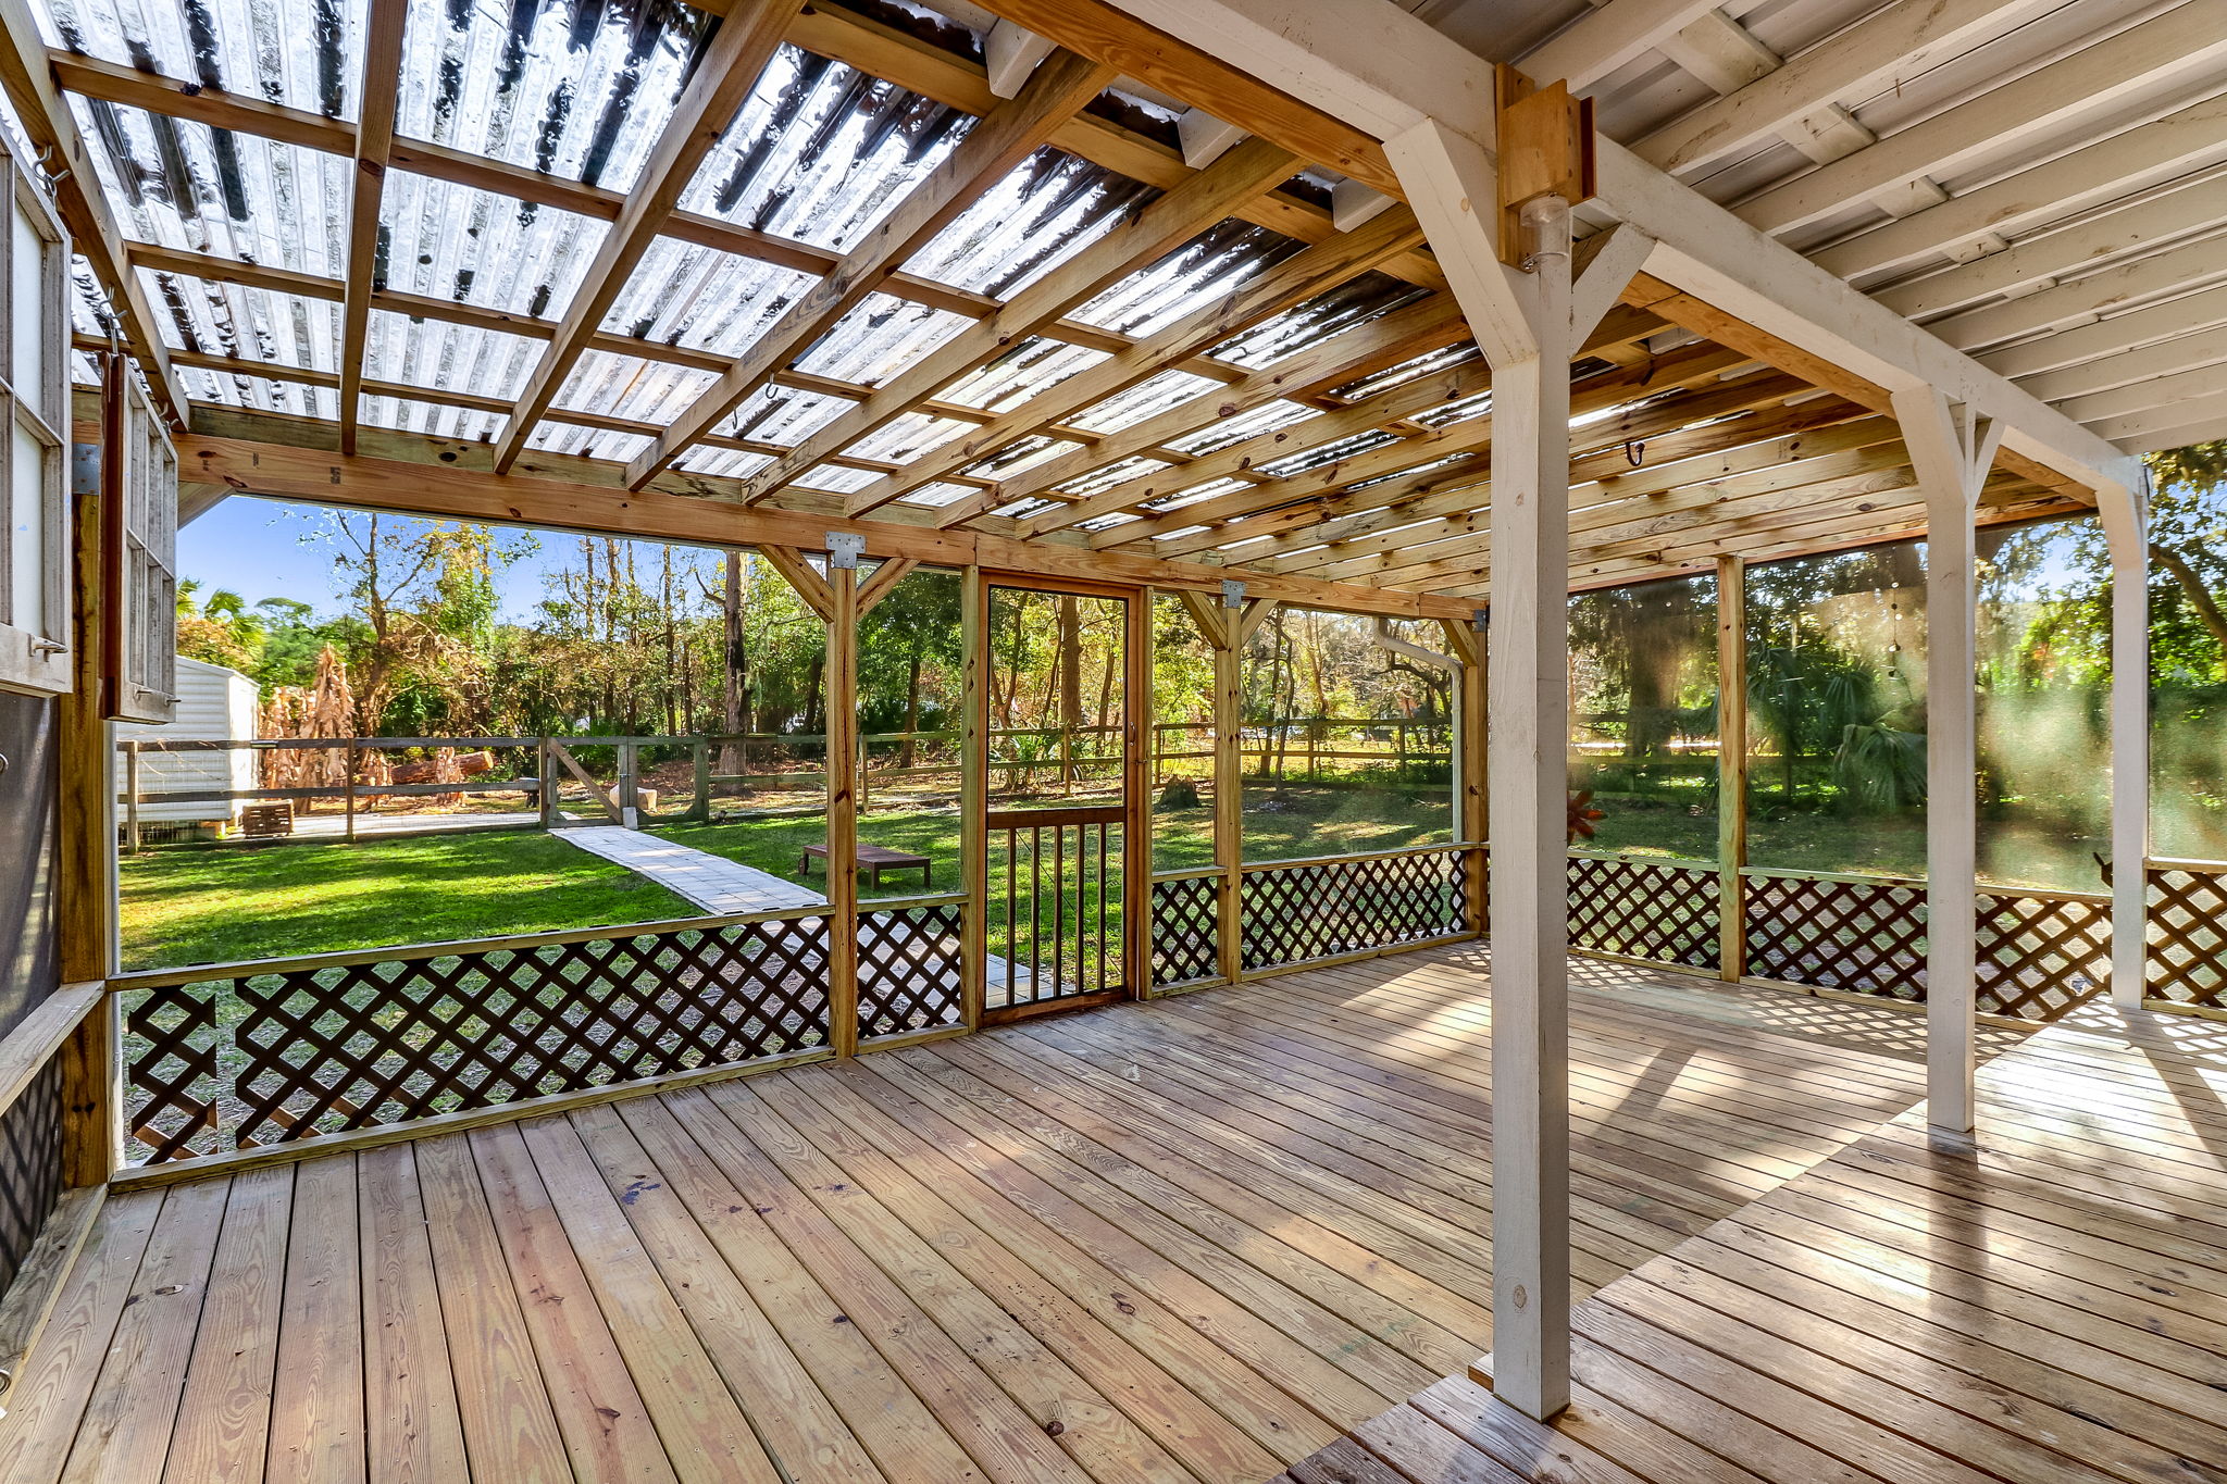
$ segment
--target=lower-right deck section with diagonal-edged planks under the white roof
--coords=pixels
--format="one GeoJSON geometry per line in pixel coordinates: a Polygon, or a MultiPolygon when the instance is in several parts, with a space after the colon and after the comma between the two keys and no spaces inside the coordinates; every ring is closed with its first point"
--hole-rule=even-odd
{"type": "Polygon", "coordinates": [[[1577,1308],[1570,1413],[1443,1379],[1296,1484],[2227,1480],[2227,1023],[2082,1010],[1577,1308]]]}

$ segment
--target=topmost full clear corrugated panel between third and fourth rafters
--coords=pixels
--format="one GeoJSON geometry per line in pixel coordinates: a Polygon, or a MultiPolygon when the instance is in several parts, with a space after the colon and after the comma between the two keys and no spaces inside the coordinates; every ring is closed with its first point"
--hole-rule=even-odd
{"type": "Polygon", "coordinates": [[[681,209],[848,251],[971,125],[931,98],[782,47],[681,209]]]}

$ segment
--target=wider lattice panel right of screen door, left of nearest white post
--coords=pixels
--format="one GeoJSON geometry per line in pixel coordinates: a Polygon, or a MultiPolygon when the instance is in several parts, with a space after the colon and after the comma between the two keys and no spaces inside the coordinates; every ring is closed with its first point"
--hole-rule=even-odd
{"type": "Polygon", "coordinates": [[[1396,948],[1468,932],[1468,848],[1247,865],[1247,970],[1396,948]]]}

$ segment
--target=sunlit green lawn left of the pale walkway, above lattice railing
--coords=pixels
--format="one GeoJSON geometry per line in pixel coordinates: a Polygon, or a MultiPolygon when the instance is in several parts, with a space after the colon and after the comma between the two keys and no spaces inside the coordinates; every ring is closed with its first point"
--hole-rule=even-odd
{"type": "Polygon", "coordinates": [[[167,968],[697,917],[541,832],[127,854],[122,963],[167,968]]]}

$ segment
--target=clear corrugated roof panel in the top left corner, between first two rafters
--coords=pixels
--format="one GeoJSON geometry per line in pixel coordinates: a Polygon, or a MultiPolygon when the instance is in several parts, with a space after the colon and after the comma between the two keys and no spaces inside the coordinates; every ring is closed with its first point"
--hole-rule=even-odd
{"type": "Polygon", "coordinates": [[[49,38],[71,51],[356,118],[367,0],[47,0],[42,9],[49,38]]]}

